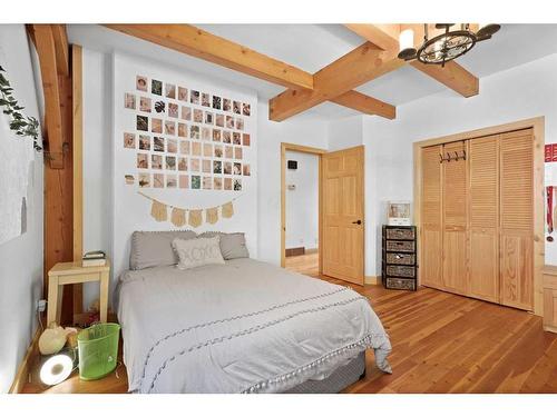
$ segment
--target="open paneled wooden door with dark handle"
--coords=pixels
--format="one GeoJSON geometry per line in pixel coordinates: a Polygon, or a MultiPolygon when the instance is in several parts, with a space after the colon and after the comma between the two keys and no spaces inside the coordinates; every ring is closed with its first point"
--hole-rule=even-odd
{"type": "Polygon", "coordinates": [[[363,285],[363,147],[322,156],[323,274],[363,285]]]}

